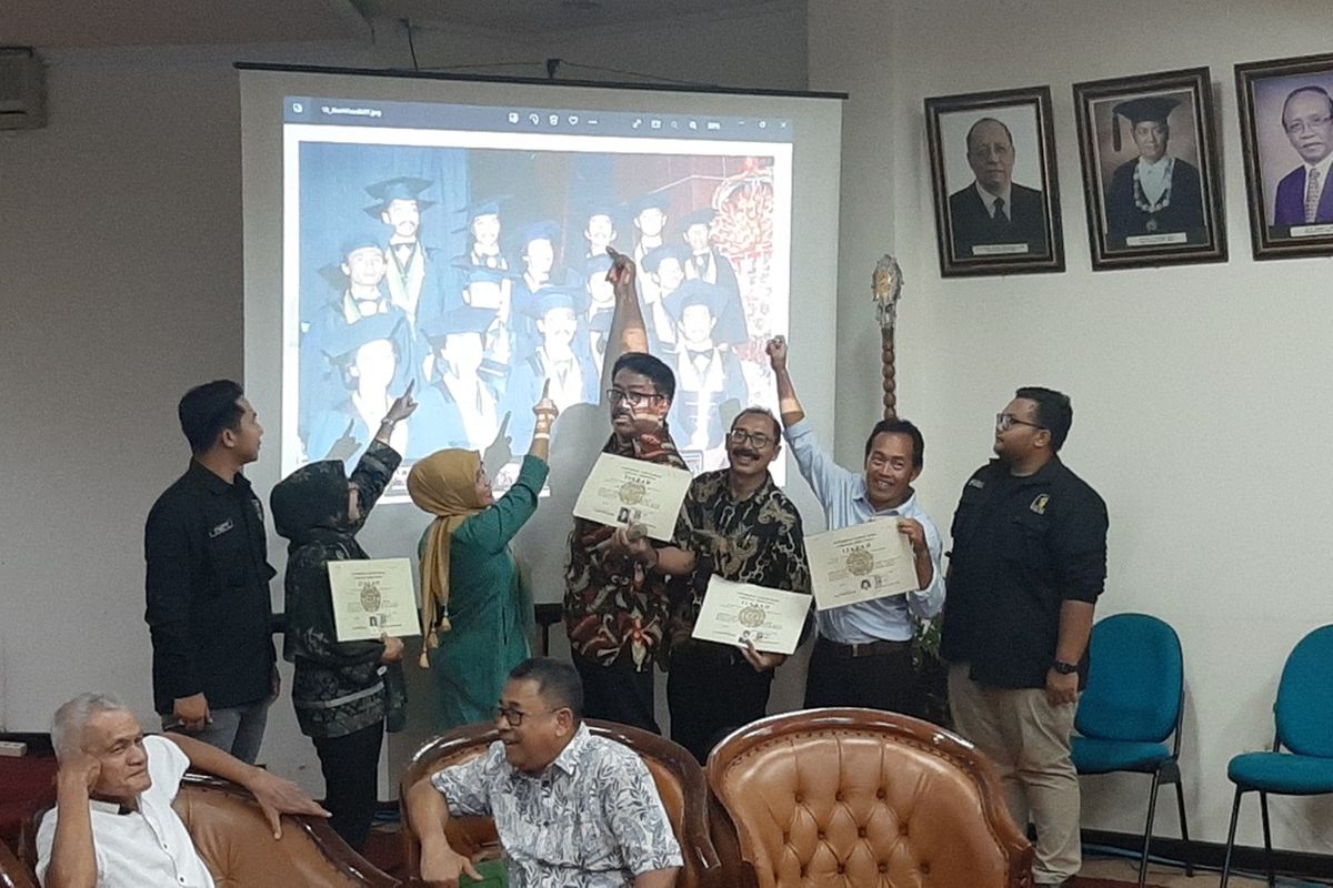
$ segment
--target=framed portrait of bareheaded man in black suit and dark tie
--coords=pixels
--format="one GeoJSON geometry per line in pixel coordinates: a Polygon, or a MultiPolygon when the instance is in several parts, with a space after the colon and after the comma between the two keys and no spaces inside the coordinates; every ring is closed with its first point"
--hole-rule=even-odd
{"type": "Polygon", "coordinates": [[[940,274],[1065,270],[1050,88],[925,100],[940,274]]]}

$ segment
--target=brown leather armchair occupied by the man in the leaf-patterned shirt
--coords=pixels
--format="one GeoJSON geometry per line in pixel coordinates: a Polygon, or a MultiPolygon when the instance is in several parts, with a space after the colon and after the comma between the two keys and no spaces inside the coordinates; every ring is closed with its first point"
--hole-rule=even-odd
{"type": "MultiPolygon", "coordinates": [[[[609,738],[637,752],[657,783],[666,816],[676,829],[685,865],[676,880],[677,888],[724,888],[721,861],[713,848],[708,828],[708,785],[693,756],[682,747],[639,728],[613,722],[584,720],[597,736],[609,738]]],[[[469,724],[444,734],[421,747],[403,774],[399,797],[407,797],[408,787],[441,767],[460,764],[485,752],[499,734],[489,724],[469,724]]],[[[407,872],[420,871],[421,845],[416,833],[403,819],[403,856],[407,872]]],[[[495,824],[488,817],[451,817],[449,844],[469,856],[499,851],[495,824]]]]}

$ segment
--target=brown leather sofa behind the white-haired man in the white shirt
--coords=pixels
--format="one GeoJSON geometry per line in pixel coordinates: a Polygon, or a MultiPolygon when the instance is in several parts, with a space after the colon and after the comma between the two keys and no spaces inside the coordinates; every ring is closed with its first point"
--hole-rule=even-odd
{"type": "MultiPolygon", "coordinates": [[[[175,808],[217,888],[396,888],[400,884],[352,851],[320,817],[284,816],[283,837],[275,841],[259,803],[235,783],[188,774],[175,808]]],[[[40,815],[28,836],[36,836],[37,823],[40,815]]],[[[27,841],[21,851],[31,879],[36,849],[27,841]]],[[[24,887],[21,880],[15,884],[24,887]]],[[[3,877],[0,888],[5,888],[3,877]]]]}

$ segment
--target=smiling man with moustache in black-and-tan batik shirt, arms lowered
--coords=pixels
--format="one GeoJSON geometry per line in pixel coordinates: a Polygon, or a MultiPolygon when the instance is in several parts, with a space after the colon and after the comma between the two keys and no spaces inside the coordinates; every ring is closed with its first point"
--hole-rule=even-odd
{"type": "Polygon", "coordinates": [[[726,433],[728,467],[694,478],[685,495],[686,547],[696,567],[690,588],[672,608],[666,703],[672,740],[700,763],[728,730],[764,718],[773,670],[786,659],[761,654],[749,642],[730,646],[690,636],[709,578],[810,591],[801,515],[768,471],[781,450],[777,418],[748,407],[726,433]]]}

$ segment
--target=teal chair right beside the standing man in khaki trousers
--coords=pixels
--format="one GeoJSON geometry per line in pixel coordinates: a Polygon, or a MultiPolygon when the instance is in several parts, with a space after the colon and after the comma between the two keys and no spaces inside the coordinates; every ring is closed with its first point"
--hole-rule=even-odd
{"type": "MultiPolygon", "coordinates": [[[[1138,885],[1148,877],[1157,789],[1176,784],[1180,835],[1189,845],[1185,789],[1180,779],[1180,726],[1185,702],[1185,663],[1176,630],[1148,614],[1116,614],[1092,627],[1092,671],[1078,699],[1073,739],[1080,775],[1130,771],[1153,777],[1144,827],[1138,885]],[[1166,739],[1174,738],[1166,746],[1166,739]]],[[[1185,859],[1185,872],[1194,865],[1185,859]]]]}

